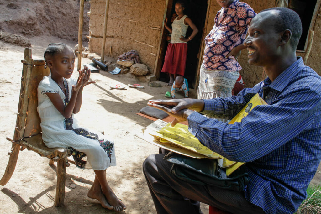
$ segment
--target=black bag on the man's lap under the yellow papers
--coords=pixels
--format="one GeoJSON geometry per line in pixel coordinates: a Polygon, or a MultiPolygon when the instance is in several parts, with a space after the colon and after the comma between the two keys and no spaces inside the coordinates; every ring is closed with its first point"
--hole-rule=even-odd
{"type": "Polygon", "coordinates": [[[168,152],[164,160],[173,163],[171,173],[189,183],[213,185],[235,191],[243,191],[248,183],[248,174],[244,165],[227,177],[226,168],[218,167],[217,159],[190,158],[175,152],[168,152]]]}

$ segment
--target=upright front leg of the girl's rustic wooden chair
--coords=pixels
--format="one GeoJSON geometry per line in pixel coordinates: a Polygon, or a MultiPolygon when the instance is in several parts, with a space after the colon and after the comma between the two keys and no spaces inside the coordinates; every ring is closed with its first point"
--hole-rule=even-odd
{"type": "Polygon", "coordinates": [[[65,185],[66,185],[66,160],[65,158],[57,161],[57,186],[55,206],[61,207],[65,201],[65,185]]]}

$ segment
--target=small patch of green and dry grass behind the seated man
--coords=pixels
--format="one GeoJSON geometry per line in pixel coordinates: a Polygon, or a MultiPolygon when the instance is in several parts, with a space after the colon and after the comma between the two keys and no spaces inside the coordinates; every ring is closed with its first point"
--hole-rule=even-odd
{"type": "Polygon", "coordinates": [[[318,186],[309,185],[307,193],[307,199],[301,203],[296,214],[321,213],[321,184],[318,186]]]}

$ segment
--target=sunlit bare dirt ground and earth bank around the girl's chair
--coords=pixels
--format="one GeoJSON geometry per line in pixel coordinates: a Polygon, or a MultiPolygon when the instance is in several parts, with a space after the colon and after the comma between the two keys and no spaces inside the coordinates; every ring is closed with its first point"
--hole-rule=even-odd
{"type": "MultiPolygon", "coordinates": [[[[54,29],[52,32],[46,31],[51,29],[48,23],[53,16],[65,17],[65,20],[58,20],[59,23],[65,23],[66,20],[77,21],[78,12],[66,13],[70,8],[65,9],[64,2],[65,4],[75,2],[73,8],[76,8],[76,3],[79,1],[53,2],[59,5],[48,9],[48,3],[40,4],[36,0],[0,0],[0,9],[3,12],[0,14],[0,30],[19,34],[30,40],[34,59],[43,59],[43,52],[51,42],[64,42],[71,47],[77,44],[75,40],[78,25],[68,22],[68,30],[55,30],[54,28],[59,28],[59,25],[55,25],[52,26],[54,29]],[[58,9],[55,11],[55,8],[58,9]],[[36,12],[46,13],[47,16],[35,18],[36,12]],[[52,16],[48,16],[48,13],[52,16]],[[36,28],[36,31],[30,31],[30,26],[25,26],[27,19],[31,20],[33,23],[31,25],[36,28]],[[74,26],[73,30],[70,30],[71,26],[74,26]],[[65,40],[67,38],[68,40],[65,40]]],[[[13,137],[21,84],[21,60],[24,51],[24,47],[12,44],[19,44],[19,42],[7,42],[0,41],[2,67],[0,70],[0,157],[2,157],[0,176],[3,175],[7,166],[9,159],[7,153],[11,149],[11,142],[7,141],[6,137],[13,137]]],[[[86,45],[84,42],[84,46],[86,45]]],[[[91,60],[87,58],[82,59],[82,64],[90,62],[91,60]]],[[[77,72],[74,72],[74,75],[77,75],[77,72]]],[[[158,148],[134,136],[152,123],[151,120],[138,116],[136,113],[147,105],[149,99],[165,98],[165,92],[170,88],[164,82],[157,81],[162,87],[153,88],[127,75],[112,75],[104,71],[92,73],[91,79],[96,83],[86,86],[83,92],[82,109],[77,114],[77,118],[84,127],[99,132],[104,131],[115,141],[117,166],[108,168],[107,179],[116,195],[127,206],[122,213],[156,213],[141,166],[148,155],[158,152],[158,148]],[[145,88],[126,87],[123,90],[109,88],[118,83],[126,85],[140,83],[145,88]]],[[[183,95],[178,93],[177,97],[183,98],[183,95]]],[[[190,91],[190,97],[196,97],[195,90],[190,91]]],[[[312,180],[314,184],[320,184],[321,181],[321,167],[318,170],[312,180]]],[[[114,213],[102,208],[98,201],[86,196],[93,178],[92,170],[80,170],[71,164],[67,168],[65,206],[57,208],[54,206],[56,166],[49,166],[47,158],[24,150],[20,152],[10,181],[0,187],[0,213],[114,213]]],[[[202,204],[202,210],[208,213],[208,206],[202,204]]]]}

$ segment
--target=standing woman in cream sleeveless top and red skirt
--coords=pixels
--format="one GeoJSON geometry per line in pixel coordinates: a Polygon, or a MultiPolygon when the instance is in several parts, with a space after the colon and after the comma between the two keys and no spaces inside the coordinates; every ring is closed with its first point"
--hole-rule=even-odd
{"type": "Polygon", "coordinates": [[[169,86],[173,85],[177,75],[184,76],[187,56],[187,42],[192,40],[198,29],[187,15],[184,14],[185,4],[183,1],[177,1],[175,12],[178,15],[172,23],[172,28],[168,27],[165,18],[164,26],[171,33],[170,43],[167,46],[165,62],[161,72],[169,73],[169,86]],[[185,38],[188,26],[193,30],[192,34],[185,38]]]}

